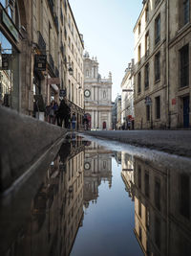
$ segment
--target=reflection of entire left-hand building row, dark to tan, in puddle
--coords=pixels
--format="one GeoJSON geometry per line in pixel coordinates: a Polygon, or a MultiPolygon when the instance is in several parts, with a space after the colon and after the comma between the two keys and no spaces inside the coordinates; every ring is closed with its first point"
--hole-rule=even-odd
{"type": "Polygon", "coordinates": [[[82,141],[65,142],[32,200],[27,229],[8,255],[70,254],[83,218],[83,166],[82,141]]]}

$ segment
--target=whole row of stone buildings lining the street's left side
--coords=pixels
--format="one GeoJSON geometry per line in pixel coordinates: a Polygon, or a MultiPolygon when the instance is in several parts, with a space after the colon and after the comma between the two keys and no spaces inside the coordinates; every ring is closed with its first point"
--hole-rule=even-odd
{"type": "Polygon", "coordinates": [[[66,95],[80,127],[84,114],[83,36],[78,32],[69,1],[1,3],[1,58],[5,54],[10,58],[10,72],[5,73],[4,66],[1,76],[10,74],[11,85],[7,86],[7,104],[5,86],[0,86],[0,102],[45,120],[45,106],[53,100],[59,104],[66,95]]]}

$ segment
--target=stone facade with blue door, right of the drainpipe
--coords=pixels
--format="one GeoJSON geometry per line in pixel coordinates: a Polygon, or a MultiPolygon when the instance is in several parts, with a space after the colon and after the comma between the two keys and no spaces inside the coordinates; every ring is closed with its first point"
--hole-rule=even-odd
{"type": "Polygon", "coordinates": [[[169,127],[191,127],[191,1],[168,1],[167,97],[169,127]]]}

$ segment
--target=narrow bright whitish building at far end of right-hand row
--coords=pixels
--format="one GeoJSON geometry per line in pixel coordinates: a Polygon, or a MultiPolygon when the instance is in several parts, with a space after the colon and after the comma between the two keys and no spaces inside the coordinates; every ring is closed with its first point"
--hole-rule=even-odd
{"type": "Polygon", "coordinates": [[[134,60],[129,63],[125,70],[124,78],[120,84],[121,93],[121,126],[128,128],[128,122],[131,122],[131,128],[134,128],[134,60]]]}

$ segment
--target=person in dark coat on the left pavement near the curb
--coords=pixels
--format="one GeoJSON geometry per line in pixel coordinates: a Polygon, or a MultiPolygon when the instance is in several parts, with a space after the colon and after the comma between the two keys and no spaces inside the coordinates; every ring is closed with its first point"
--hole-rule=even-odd
{"type": "Polygon", "coordinates": [[[62,127],[62,122],[64,120],[64,127],[69,128],[69,119],[71,116],[71,109],[70,107],[66,104],[65,99],[63,99],[60,102],[60,105],[57,110],[57,120],[58,120],[58,126],[62,127]]]}

